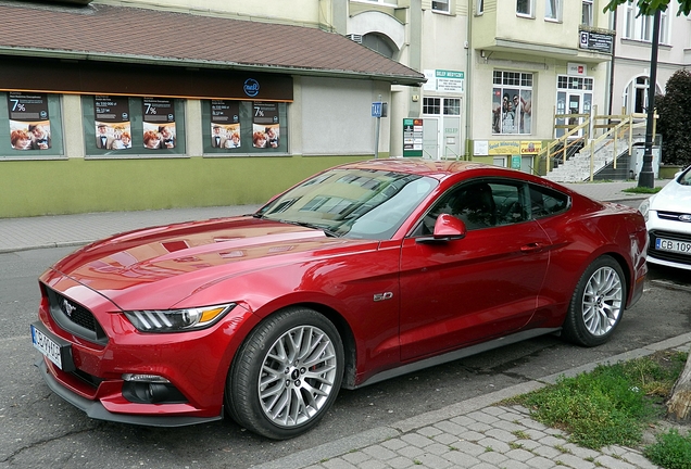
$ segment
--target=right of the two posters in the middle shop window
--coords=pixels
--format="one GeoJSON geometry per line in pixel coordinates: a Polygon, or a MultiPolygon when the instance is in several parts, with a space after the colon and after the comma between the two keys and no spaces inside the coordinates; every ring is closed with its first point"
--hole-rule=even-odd
{"type": "Polygon", "coordinates": [[[145,98],[143,147],[147,150],[174,149],[176,144],[175,100],[145,98]]]}

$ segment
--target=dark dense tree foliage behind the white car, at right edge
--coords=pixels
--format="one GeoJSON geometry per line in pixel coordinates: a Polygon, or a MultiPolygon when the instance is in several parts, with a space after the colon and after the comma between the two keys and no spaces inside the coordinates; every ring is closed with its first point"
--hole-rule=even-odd
{"type": "Polygon", "coordinates": [[[665,85],[665,94],[655,97],[659,116],[657,132],[663,136],[662,160],[665,164],[691,164],[691,72],[675,72],[665,85]]]}

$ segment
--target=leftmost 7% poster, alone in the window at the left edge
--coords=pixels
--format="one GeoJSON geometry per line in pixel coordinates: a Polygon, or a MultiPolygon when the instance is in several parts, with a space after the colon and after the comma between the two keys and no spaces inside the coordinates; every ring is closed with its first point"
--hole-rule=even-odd
{"type": "Polygon", "coordinates": [[[14,150],[48,150],[50,118],[45,93],[8,93],[10,142],[14,150]]]}

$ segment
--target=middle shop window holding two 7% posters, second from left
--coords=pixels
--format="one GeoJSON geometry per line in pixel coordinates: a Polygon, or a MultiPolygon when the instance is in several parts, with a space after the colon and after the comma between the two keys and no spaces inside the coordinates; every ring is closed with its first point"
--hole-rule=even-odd
{"type": "Polygon", "coordinates": [[[186,154],[184,100],[84,96],[81,112],[87,157],[186,154]]]}

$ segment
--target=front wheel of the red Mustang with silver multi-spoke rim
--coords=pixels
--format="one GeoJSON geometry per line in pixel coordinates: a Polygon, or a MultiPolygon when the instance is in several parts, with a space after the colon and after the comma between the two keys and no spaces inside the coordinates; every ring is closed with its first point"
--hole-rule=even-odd
{"type": "Polygon", "coordinates": [[[297,436],[336,401],[343,362],[341,338],[326,317],[302,307],[278,312],[238,350],[226,382],[227,410],[266,438],[297,436]]]}

